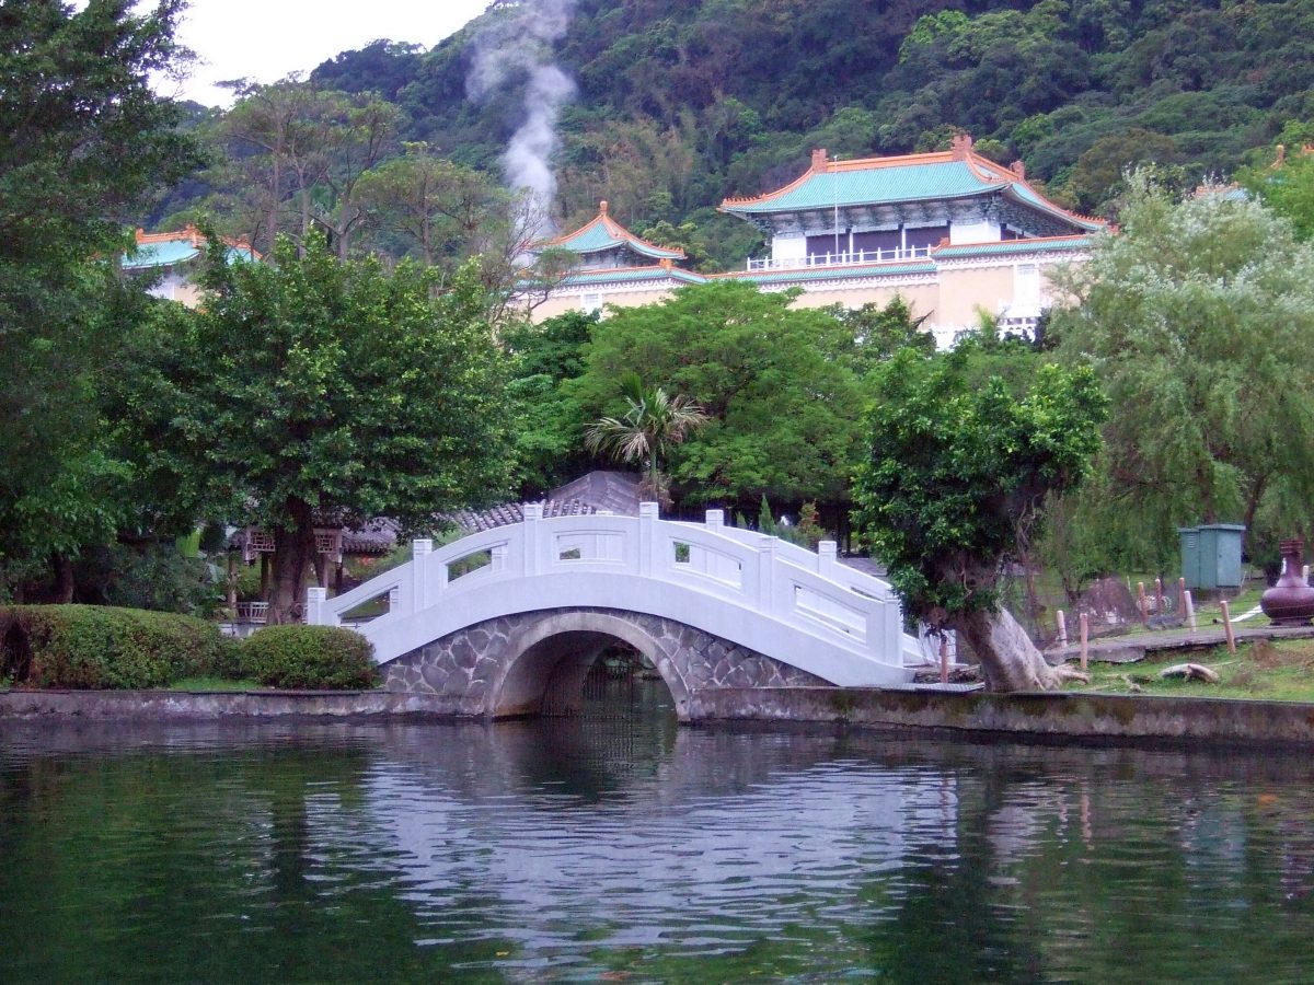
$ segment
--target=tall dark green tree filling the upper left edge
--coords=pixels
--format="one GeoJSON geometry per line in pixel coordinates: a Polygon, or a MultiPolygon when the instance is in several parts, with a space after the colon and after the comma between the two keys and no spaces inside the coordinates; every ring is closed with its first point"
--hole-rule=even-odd
{"type": "Polygon", "coordinates": [[[60,598],[70,556],[127,520],[102,383],[135,315],[105,257],[198,162],[148,84],[183,5],[0,7],[0,559],[53,562],[60,598]]]}

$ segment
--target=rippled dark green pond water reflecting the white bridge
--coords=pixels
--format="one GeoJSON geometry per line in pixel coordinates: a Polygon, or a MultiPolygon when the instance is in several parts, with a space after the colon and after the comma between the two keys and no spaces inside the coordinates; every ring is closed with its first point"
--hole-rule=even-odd
{"type": "Polygon", "coordinates": [[[1314,764],[678,728],[0,725],[0,981],[1314,981],[1314,764]]]}

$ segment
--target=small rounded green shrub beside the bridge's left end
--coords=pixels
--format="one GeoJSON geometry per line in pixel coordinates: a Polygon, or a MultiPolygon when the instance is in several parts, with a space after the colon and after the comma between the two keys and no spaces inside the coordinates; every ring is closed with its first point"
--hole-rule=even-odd
{"type": "Polygon", "coordinates": [[[378,683],[373,647],[336,626],[268,626],[242,644],[243,675],[268,687],[364,688],[378,683]]]}

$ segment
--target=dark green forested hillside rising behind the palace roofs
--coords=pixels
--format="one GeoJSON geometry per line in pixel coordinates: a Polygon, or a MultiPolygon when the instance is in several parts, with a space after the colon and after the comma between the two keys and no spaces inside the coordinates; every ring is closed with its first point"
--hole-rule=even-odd
{"type": "MultiPolygon", "coordinates": [[[[536,5],[495,3],[427,53],[344,53],[311,83],[377,91],[405,112],[405,139],[495,169],[524,120],[528,72],[482,100],[466,80],[481,35],[536,5]]],[[[548,5],[570,16],[547,56],[578,87],[558,123],[558,219],[587,218],[606,197],[636,230],[692,221],[723,259],[749,248],[752,230],[714,206],[794,177],[813,146],[899,154],[967,130],[1060,201],[1108,211],[1129,163],[1154,160],[1189,185],[1314,120],[1314,0],[548,5]]]]}

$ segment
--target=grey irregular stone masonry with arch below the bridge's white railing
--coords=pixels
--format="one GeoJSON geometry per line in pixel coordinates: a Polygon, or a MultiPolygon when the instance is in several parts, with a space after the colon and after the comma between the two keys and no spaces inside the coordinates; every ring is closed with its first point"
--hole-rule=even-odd
{"type": "Polygon", "coordinates": [[[679,718],[716,688],[828,687],[798,667],[661,616],[603,608],[520,612],[468,626],[380,667],[385,690],[431,693],[451,713],[507,717],[581,707],[589,667],[622,641],[652,661],[679,718]]]}

